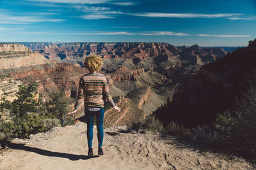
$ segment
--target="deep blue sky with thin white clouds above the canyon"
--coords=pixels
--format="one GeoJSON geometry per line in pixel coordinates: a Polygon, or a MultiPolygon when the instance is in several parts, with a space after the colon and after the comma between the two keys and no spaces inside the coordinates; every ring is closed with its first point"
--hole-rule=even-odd
{"type": "Polygon", "coordinates": [[[247,46],[255,0],[0,0],[0,41],[247,46]]]}

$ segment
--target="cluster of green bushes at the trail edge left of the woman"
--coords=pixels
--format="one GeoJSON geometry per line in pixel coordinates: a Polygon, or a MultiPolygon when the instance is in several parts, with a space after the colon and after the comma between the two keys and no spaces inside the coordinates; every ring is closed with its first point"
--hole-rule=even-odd
{"type": "MultiPolygon", "coordinates": [[[[60,126],[62,115],[68,112],[68,99],[64,92],[52,92],[48,102],[38,102],[35,96],[38,93],[38,84],[33,81],[27,86],[19,85],[17,99],[12,103],[3,99],[0,111],[10,113],[8,122],[0,117],[0,138],[28,138],[30,134],[46,131],[54,126],[60,126]]],[[[72,120],[68,120],[70,124],[72,120]]]]}

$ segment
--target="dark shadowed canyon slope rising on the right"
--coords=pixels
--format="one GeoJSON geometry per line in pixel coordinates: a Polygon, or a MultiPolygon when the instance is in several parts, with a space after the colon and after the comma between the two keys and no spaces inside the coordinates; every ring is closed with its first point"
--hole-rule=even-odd
{"type": "Polygon", "coordinates": [[[200,67],[196,74],[187,76],[179,85],[169,106],[163,108],[168,111],[159,111],[157,118],[164,124],[173,120],[195,127],[212,125],[218,115],[240,109],[237,101],[244,101],[244,93],[256,85],[255,53],[256,39],[200,67]]]}

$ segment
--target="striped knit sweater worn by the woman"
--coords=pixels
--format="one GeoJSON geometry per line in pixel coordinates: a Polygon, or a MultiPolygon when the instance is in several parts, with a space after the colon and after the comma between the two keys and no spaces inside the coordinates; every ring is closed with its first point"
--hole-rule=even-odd
{"type": "Polygon", "coordinates": [[[109,92],[108,78],[104,74],[87,73],[80,78],[75,109],[81,106],[83,98],[84,107],[89,109],[104,108],[106,99],[111,102],[113,107],[115,106],[109,92]]]}

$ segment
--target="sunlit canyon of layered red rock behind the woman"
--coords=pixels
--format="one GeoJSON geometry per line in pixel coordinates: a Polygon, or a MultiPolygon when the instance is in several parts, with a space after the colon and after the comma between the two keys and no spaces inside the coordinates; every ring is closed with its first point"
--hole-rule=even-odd
{"type": "MultiPolygon", "coordinates": [[[[63,90],[75,99],[79,78],[88,73],[84,57],[91,53],[104,59],[99,73],[107,76],[111,96],[122,110],[106,110],[106,127],[131,125],[150,115],[167,97],[172,99],[188,76],[227,54],[223,48],[169,43],[2,43],[0,76],[24,85],[35,80],[45,98],[63,90]]],[[[83,117],[83,107],[79,112],[83,117]]]]}

